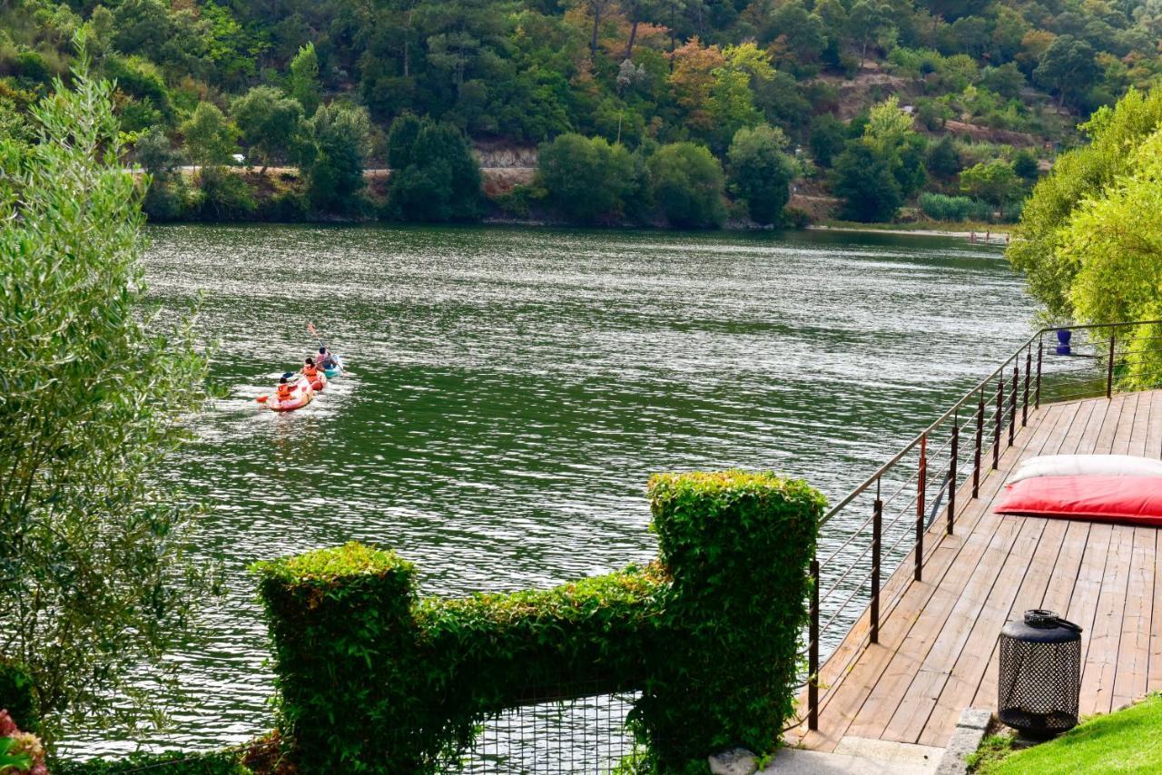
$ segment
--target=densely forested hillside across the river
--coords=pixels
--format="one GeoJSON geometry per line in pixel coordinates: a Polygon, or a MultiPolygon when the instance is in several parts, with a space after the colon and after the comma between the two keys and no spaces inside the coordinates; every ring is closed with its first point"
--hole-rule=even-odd
{"type": "Polygon", "coordinates": [[[1160,0],[0,0],[0,132],[86,56],[156,218],[1011,221],[1160,34],[1160,0]]]}

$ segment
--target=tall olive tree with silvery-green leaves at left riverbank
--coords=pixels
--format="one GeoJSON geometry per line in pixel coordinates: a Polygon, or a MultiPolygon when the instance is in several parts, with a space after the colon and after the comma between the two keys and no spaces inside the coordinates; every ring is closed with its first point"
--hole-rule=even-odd
{"type": "Polygon", "coordinates": [[[213,581],[187,555],[199,509],[163,475],[207,360],[187,314],[146,302],[113,86],[83,59],[55,88],[31,143],[0,139],[0,654],[50,737],[141,729],[213,581]]]}

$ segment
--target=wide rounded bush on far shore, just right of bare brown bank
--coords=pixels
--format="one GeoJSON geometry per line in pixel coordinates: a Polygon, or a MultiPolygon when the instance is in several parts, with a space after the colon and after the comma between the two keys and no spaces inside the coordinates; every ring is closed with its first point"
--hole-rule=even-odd
{"type": "Polygon", "coordinates": [[[616,222],[641,211],[647,195],[640,165],[624,145],[566,134],[541,145],[537,185],[575,223],[616,222]]]}

